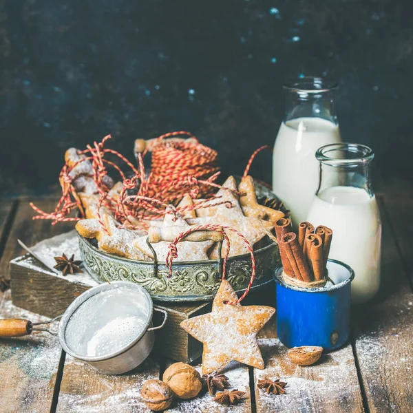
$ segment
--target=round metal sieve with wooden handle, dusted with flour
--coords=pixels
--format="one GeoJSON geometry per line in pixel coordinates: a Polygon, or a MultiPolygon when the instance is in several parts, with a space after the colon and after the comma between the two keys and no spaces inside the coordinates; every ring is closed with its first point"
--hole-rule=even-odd
{"type": "MultiPolygon", "coordinates": [[[[153,308],[147,290],[117,281],[100,284],[77,297],[61,316],[58,336],[63,350],[72,357],[104,374],[122,374],[148,357],[154,343],[153,331],[162,328],[166,320],[167,312],[153,308]],[[160,326],[152,326],[153,310],[164,314],[160,326]]],[[[33,328],[49,322],[0,320],[0,338],[19,337],[39,329],[51,332],[33,328]]]]}

